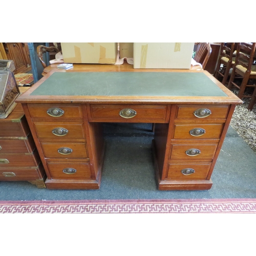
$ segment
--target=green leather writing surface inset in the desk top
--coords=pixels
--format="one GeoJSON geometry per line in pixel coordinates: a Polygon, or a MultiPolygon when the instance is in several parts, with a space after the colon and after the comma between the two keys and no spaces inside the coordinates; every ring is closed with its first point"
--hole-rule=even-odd
{"type": "Polygon", "coordinates": [[[31,95],[227,97],[204,73],[187,72],[55,72],[31,95]]]}

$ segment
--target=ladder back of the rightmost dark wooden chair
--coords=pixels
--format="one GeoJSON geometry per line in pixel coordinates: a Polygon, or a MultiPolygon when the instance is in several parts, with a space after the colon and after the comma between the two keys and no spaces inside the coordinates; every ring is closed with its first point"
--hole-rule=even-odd
{"type": "Polygon", "coordinates": [[[236,55],[236,66],[242,66],[246,72],[251,71],[251,66],[256,58],[255,54],[256,42],[239,42],[236,55]]]}

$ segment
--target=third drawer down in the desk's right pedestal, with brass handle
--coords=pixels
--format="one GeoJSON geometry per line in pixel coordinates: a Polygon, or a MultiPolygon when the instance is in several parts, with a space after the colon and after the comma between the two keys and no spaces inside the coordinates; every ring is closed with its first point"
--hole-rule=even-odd
{"type": "Polygon", "coordinates": [[[211,162],[218,144],[173,144],[170,160],[211,162]]]}

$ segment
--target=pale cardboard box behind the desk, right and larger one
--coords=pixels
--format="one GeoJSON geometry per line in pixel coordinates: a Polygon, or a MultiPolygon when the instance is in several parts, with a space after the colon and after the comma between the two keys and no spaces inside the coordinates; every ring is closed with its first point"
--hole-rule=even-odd
{"type": "Polygon", "coordinates": [[[135,42],[135,69],[190,69],[194,42],[135,42]]]}

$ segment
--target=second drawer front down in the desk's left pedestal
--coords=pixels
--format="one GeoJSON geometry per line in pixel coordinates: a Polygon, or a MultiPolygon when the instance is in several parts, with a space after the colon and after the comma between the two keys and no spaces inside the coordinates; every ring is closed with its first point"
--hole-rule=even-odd
{"type": "Polygon", "coordinates": [[[85,138],[83,123],[63,123],[63,122],[34,122],[35,130],[38,138],[49,139],[81,139],[85,138]],[[54,135],[54,129],[63,128],[68,130],[68,133],[63,136],[54,135]]]}

